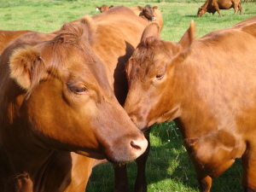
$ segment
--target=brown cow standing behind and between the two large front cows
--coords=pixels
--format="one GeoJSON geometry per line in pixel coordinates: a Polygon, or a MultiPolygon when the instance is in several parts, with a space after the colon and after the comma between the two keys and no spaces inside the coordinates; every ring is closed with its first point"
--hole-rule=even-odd
{"type": "MultiPolygon", "coordinates": [[[[115,6],[102,14],[94,15],[93,18],[94,20],[98,20],[97,22],[100,22],[102,25],[97,27],[99,40],[96,44],[93,44],[93,49],[110,67],[111,78],[114,78],[113,90],[119,103],[122,105],[125,102],[128,91],[127,79],[125,78],[125,62],[128,61],[134,49],[137,47],[137,44],[139,44],[143,30],[148,25],[148,20],[138,17],[131,9],[125,8],[124,6],[115,6]],[[113,17],[110,13],[117,14],[119,17],[113,17]],[[102,20],[102,18],[104,18],[104,20],[102,20]],[[113,23],[108,25],[105,21],[106,19],[111,20],[113,23]],[[122,22],[121,20],[124,21],[122,22]],[[129,22],[126,20],[129,20],[129,22]],[[108,32],[108,36],[106,32],[108,32]],[[104,41],[100,39],[104,39],[104,41]],[[109,44],[112,44],[112,46],[110,47],[109,44]]],[[[141,158],[143,157],[137,158],[138,175],[141,174],[141,158]]],[[[116,192],[129,191],[125,170],[125,165],[118,164],[114,166],[114,189],[116,192]]],[[[137,188],[139,189],[141,186],[137,186],[137,188]]]]}

